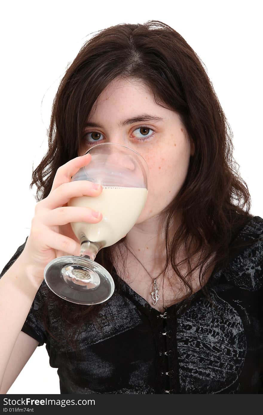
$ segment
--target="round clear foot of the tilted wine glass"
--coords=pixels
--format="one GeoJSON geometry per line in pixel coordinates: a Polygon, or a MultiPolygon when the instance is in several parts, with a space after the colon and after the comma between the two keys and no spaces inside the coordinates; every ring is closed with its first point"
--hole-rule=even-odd
{"type": "Polygon", "coordinates": [[[47,286],[75,304],[100,304],[114,292],[111,274],[100,264],[82,256],[61,256],[44,269],[47,286]]]}

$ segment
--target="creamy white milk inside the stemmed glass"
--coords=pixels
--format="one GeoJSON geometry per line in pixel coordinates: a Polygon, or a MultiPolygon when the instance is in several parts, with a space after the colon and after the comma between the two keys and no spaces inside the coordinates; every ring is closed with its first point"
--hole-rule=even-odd
{"type": "Polygon", "coordinates": [[[148,190],[138,187],[103,186],[100,195],[72,198],[68,206],[85,206],[102,213],[98,223],[71,222],[71,228],[78,239],[84,234],[89,241],[105,241],[109,247],[135,225],[147,199],[148,190]]]}

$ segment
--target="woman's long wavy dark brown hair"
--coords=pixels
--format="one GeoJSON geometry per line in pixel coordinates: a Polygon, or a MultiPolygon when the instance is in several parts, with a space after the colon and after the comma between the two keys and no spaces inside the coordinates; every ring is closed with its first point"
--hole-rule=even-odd
{"type": "MultiPolygon", "coordinates": [[[[233,158],[233,133],[216,96],[204,63],[183,37],[172,27],[151,20],[145,24],[118,24],[96,32],[81,47],[66,69],[55,95],[48,131],[48,151],[32,173],[37,186],[36,200],[46,198],[52,188],[59,166],[78,156],[83,144],[83,131],[93,104],[115,78],[137,79],[150,89],[155,103],[177,112],[195,146],[190,157],[187,177],[175,199],[165,208],[163,228],[166,236],[166,264],[175,271],[187,294],[193,293],[191,275],[199,269],[202,286],[207,270],[229,256],[229,242],[236,229],[251,217],[251,197],[246,183],[239,175],[239,165],[233,158]],[[170,224],[177,213],[182,225],[170,242],[170,224]],[[192,252],[192,247],[195,247],[192,252]],[[176,253],[184,247],[185,259],[177,263],[176,253]],[[191,251],[190,251],[191,247],[191,251]],[[192,269],[190,259],[199,253],[199,261],[192,269]],[[192,252],[192,253],[190,253],[192,252]],[[215,255],[214,255],[215,254],[215,255]],[[209,258],[212,261],[207,262],[209,258]],[[179,266],[187,263],[188,273],[182,275],[179,266]]],[[[113,276],[116,289],[118,279],[113,274],[113,252],[125,238],[111,247],[101,249],[96,261],[113,276]]],[[[127,257],[123,258],[123,269],[127,257]]],[[[202,288],[209,298],[206,285],[202,288]]],[[[52,310],[64,325],[66,341],[77,350],[77,333],[83,323],[96,324],[103,303],[77,305],[57,297],[49,290],[43,309],[46,330],[48,302],[54,300],[52,310]]]]}

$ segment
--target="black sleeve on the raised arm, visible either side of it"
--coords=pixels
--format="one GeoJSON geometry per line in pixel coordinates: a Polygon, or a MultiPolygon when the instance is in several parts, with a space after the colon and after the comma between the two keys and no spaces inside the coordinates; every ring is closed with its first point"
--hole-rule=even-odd
{"type": "MultiPolygon", "coordinates": [[[[27,238],[25,242],[22,245],[20,245],[20,247],[17,248],[17,251],[15,252],[15,254],[4,266],[2,272],[0,273],[0,278],[2,278],[2,276],[10,268],[10,266],[12,266],[12,264],[14,264],[14,262],[20,256],[23,249],[25,248],[27,238]]],[[[39,342],[38,346],[43,346],[43,344],[47,343],[48,341],[47,332],[42,323],[42,308],[44,304],[44,295],[43,295],[44,284],[45,282],[43,281],[43,283],[41,284],[41,286],[39,287],[37,291],[37,294],[35,295],[32,306],[29,310],[25,323],[21,329],[22,332],[36,339],[39,342]]]]}

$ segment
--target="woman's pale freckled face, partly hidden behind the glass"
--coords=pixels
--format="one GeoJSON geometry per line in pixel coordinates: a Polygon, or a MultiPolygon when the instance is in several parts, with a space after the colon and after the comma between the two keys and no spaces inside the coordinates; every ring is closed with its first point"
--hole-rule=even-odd
{"type": "Polygon", "coordinates": [[[179,116],[157,105],[141,82],[116,79],[98,97],[96,110],[93,105],[88,122],[96,127],[86,127],[79,155],[104,142],[123,144],[137,151],[148,164],[149,176],[147,201],[136,223],[157,216],[182,187],[190,155],[194,154],[194,144],[189,141],[179,116]],[[138,120],[122,124],[133,117],[138,120]]]}

